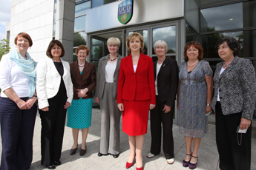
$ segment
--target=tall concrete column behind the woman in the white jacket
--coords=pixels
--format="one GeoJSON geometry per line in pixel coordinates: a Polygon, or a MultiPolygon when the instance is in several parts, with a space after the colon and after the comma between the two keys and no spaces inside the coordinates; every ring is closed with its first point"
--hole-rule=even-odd
{"type": "Polygon", "coordinates": [[[57,0],[55,39],[62,42],[68,62],[73,62],[75,7],[76,0],[57,0]]]}

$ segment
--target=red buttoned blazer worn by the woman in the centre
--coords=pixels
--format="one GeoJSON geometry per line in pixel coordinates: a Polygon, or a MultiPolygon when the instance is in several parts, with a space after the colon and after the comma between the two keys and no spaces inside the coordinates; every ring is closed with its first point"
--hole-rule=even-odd
{"type": "Polygon", "coordinates": [[[131,55],[122,58],[117,85],[117,103],[127,101],[151,100],[156,103],[153,60],[148,55],[140,54],[134,73],[131,55]]]}

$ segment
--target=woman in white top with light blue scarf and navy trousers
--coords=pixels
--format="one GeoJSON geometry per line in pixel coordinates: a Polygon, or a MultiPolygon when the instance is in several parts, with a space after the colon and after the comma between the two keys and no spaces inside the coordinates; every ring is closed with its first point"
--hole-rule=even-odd
{"type": "Polygon", "coordinates": [[[30,35],[19,33],[14,43],[17,49],[0,62],[0,169],[29,169],[37,111],[36,63],[27,52],[33,44],[30,35]]]}

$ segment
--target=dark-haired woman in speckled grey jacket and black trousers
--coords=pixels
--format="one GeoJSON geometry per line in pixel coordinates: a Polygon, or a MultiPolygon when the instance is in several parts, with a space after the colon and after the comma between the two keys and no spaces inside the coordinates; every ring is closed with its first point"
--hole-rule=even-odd
{"type": "Polygon", "coordinates": [[[224,61],[214,74],[216,143],[220,169],[251,169],[252,115],[255,109],[255,68],[248,59],[239,58],[240,44],[231,37],[221,38],[216,50],[224,61]],[[237,133],[247,129],[246,133],[237,133]]]}

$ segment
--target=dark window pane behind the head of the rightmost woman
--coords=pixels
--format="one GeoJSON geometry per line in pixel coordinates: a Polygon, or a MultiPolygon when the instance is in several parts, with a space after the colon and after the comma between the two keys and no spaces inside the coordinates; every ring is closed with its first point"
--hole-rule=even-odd
{"type": "Polygon", "coordinates": [[[201,44],[203,46],[203,58],[220,58],[215,51],[215,44],[218,39],[225,36],[236,38],[241,45],[239,57],[256,57],[256,30],[245,30],[229,33],[215,33],[201,35],[201,44]]]}

